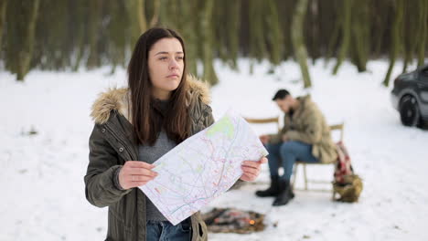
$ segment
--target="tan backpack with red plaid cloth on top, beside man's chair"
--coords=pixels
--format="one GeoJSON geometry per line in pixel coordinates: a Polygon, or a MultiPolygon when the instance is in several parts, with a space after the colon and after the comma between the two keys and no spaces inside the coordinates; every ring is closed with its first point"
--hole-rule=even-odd
{"type": "Polygon", "coordinates": [[[337,142],[336,149],[337,163],[334,173],[335,181],[333,182],[334,199],[346,203],[358,202],[359,194],[363,188],[362,180],[354,173],[348,150],[342,141],[337,142]],[[336,194],[339,195],[338,198],[336,198],[336,194]]]}

